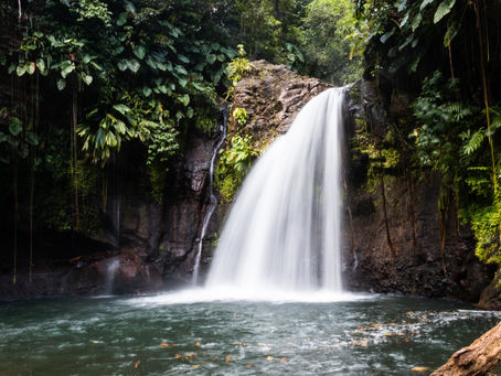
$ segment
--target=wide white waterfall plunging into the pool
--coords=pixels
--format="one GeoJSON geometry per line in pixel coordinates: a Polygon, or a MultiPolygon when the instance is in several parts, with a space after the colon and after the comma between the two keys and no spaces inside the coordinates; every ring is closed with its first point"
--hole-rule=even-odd
{"type": "Polygon", "coordinates": [[[342,292],[344,88],[311,99],[259,158],[223,228],[206,287],[342,292]]]}

